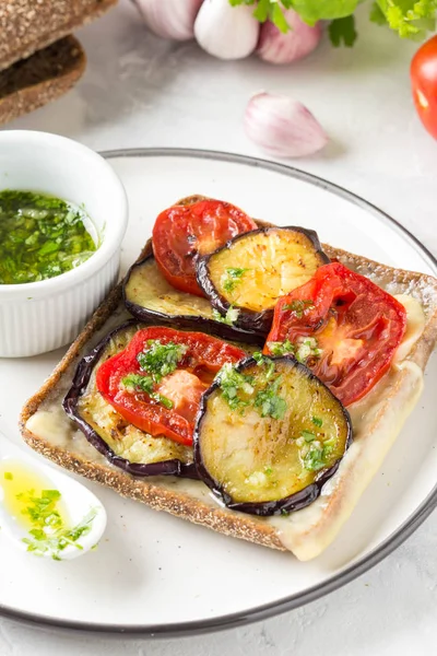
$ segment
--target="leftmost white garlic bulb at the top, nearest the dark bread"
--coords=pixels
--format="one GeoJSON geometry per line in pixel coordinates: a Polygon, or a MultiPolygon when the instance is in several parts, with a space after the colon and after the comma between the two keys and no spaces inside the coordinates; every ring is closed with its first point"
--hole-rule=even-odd
{"type": "Polygon", "coordinates": [[[203,0],[133,0],[145,24],[164,38],[189,40],[203,0]]]}

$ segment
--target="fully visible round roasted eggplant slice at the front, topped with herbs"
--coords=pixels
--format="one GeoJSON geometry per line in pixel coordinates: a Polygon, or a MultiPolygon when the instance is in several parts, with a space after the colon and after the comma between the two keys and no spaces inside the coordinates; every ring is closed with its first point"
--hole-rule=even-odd
{"type": "Polygon", "coordinates": [[[226,506],[275,515],[310,504],[351,440],[347,411],[307,367],[250,358],[225,365],[203,395],[194,459],[226,506]]]}

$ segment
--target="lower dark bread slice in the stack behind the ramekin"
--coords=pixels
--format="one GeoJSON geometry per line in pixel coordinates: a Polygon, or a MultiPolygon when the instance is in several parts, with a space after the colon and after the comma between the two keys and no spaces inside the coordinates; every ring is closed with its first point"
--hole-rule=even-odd
{"type": "Polygon", "coordinates": [[[0,71],[0,124],[67,93],[82,77],[85,65],[81,44],[67,36],[0,71]]]}

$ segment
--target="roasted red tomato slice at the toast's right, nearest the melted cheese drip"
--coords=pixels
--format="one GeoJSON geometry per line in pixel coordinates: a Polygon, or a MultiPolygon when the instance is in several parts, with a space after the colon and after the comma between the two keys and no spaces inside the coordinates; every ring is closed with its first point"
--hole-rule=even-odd
{"type": "Polygon", "coordinates": [[[405,326],[401,303],[334,262],[279,301],[264,353],[274,352],[272,342],[290,340],[297,356],[349,406],[387,372],[405,326]],[[305,338],[315,342],[305,348],[305,338]]]}

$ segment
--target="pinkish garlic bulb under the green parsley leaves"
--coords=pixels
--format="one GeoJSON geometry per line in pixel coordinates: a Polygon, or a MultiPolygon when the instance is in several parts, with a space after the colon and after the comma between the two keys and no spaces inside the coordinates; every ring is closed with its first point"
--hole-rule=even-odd
{"type": "Polygon", "coordinates": [[[261,27],[257,54],[264,61],[290,63],[312,52],[319,44],[322,34],[320,23],[314,27],[307,25],[293,9],[285,10],[284,15],[290,25],[286,34],[280,32],[271,21],[261,27]]]}

